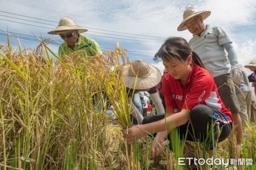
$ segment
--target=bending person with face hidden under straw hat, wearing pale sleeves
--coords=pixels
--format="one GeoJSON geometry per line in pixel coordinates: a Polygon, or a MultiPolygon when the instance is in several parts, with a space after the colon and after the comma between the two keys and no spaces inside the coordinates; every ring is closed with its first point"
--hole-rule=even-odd
{"type": "MultiPolygon", "coordinates": [[[[135,107],[134,103],[131,102],[133,91],[134,93],[138,91],[140,94],[143,92],[144,96],[144,91],[148,91],[156,110],[159,113],[164,113],[163,105],[155,87],[160,82],[161,73],[154,65],[148,64],[140,59],[134,60],[131,64],[123,66],[123,76],[128,89],[128,102],[132,103],[131,113],[133,113],[132,116],[138,120],[138,124],[142,123],[143,117],[139,115],[138,109],[135,107]],[[133,90],[133,88],[135,88],[135,90],[133,90]]],[[[134,124],[136,125],[136,122],[134,122],[134,124]]]]}

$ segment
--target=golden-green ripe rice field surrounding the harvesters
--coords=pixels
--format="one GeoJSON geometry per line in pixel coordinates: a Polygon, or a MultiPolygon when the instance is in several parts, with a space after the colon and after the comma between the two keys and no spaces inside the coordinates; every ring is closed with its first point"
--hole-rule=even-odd
{"type": "MultiPolygon", "coordinates": [[[[0,46],[0,170],[186,169],[178,165],[182,149],[163,148],[151,160],[152,138],[125,144],[121,130],[131,126],[131,107],[122,79],[121,63],[129,64],[124,49],[59,58],[49,40],[34,50],[13,49],[7,40],[0,46]],[[110,105],[116,119],[107,114],[110,105]]],[[[218,158],[252,160],[224,169],[256,169],[255,131],[255,123],[244,127],[243,147],[235,135],[219,144],[218,158]]],[[[184,147],[184,141],[174,140],[184,147]]],[[[198,158],[207,158],[202,144],[190,144],[198,158]]]]}

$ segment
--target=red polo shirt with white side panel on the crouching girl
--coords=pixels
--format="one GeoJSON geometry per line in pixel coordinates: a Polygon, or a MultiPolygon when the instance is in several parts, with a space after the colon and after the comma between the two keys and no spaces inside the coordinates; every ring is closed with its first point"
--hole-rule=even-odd
{"type": "Polygon", "coordinates": [[[192,71],[185,85],[170,74],[163,79],[163,93],[166,102],[166,111],[170,108],[174,112],[181,109],[192,110],[196,105],[207,105],[226,114],[232,119],[231,112],[225,108],[212,75],[204,68],[193,64],[192,71]]]}

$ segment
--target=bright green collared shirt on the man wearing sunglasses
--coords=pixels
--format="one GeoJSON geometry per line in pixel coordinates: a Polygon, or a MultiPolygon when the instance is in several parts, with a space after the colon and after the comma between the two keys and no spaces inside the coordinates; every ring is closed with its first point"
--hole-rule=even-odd
{"type": "Polygon", "coordinates": [[[99,48],[99,44],[90,38],[84,37],[79,34],[79,40],[76,43],[74,49],[71,49],[66,42],[63,42],[58,49],[58,56],[69,55],[75,51],[83,50],[84,52],[80,54],[81,57],[90,57],[96,54],[102,54],[99,48]]]}

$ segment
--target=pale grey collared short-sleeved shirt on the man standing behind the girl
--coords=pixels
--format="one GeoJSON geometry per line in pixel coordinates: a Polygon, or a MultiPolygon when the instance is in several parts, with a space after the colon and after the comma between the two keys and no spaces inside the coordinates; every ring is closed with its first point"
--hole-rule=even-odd
{"type": "Polygon", "coordinates": [[[213,77],[230,73],[230,61],[224,44],[232,42],[221,26],[207,25],[200,35],[193,35],[189,46],[195,51],[213,77]]]}

